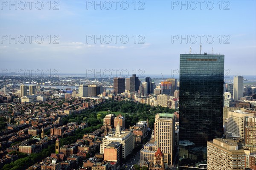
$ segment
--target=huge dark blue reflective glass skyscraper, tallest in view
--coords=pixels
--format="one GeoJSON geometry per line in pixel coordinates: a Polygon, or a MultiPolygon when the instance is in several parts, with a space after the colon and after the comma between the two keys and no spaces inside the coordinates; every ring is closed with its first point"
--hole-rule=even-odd
{"type": "Polygon", "coordinates": [[[224,55],[180,54],[179,140],[188,150],[222,136],[223,82],[224,55]]]}

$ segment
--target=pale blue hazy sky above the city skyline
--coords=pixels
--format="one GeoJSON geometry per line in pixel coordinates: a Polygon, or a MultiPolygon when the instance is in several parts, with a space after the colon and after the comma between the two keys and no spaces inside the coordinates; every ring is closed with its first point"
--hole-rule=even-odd
{"type": "Polygon", "coordinates": [[[48,1],[42,1],[43,7],[34,1],[31,10],[27,1],[23,1],[24,10],[20,9],[24,3],[15,2],[17,9],[1,0],[1,69],[80,74],[87,69],[127,69],[129,74],[143,69],[145,74],[171,74],[172,69],[179,69],[179,54],[189,53],[190,46],[192,53],[199,53],[201,35],[202,52],[209,54],[213,47],[214,53],[224,54],[230,75],[256,74],[254,0],[204,1],[201,7],[198,1],[182,1],[185,5],[181,6],[181,1],[144,0],[135,1],[136,7],[134,0],[116,1],[116,9],[113,0],[97,1],[102,9],[94,0],[59,0],[51,1],[50,10],[48,1]],[[110,10],[106,9],[109,4],[110,10]],[[140,6],[144,9],[139,10],[140,6]],[[9,42],[9,36],[15,35],[17,43],[9,42]],[[27,35],[34,36],[31,43],[27,35]],[[35,41],[37,35],[44,38],[41,44],[35,41]],[[95,35],[99,39],[102,35],[102,43],[94,42],[95,35]],[[119,36],[116,43],[113,35],[119,36]]]}

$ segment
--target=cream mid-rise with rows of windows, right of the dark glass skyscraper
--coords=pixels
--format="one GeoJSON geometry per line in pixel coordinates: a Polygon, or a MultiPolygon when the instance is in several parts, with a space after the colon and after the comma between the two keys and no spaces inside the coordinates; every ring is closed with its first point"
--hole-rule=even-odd
{"type": "Polygon", "coordinates": [[[245,117],[253,117],[254,113],[244,111],[229,111],[227,116],[227,132],[235,133],[244,139],[244,121],[245,117]]]}

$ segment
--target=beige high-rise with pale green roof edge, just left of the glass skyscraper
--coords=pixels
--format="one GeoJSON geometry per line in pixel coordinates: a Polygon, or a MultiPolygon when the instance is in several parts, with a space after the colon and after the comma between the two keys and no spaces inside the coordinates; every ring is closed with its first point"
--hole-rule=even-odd
{"type": "Polygon", "coordinates": [[[172,165],[175,141],[174,114],[157,113],[154,123],[155,143],[163,152],[165,164],[172,165]]]}

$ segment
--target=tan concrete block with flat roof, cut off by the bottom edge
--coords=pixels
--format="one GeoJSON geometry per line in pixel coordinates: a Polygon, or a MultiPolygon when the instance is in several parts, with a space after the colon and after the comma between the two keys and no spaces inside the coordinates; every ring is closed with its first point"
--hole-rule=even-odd
{"type": "Polygon", "coordinates": [[[207,142],[207,170],[244,170],[245,153],[241,143],[232,139],[207,142]]]}

